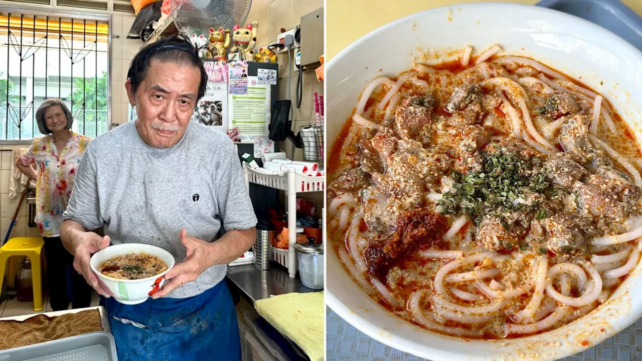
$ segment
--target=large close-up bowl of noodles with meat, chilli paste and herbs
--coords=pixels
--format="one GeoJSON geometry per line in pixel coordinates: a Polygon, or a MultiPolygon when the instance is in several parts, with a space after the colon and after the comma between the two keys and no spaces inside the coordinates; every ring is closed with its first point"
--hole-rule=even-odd
{"type": "Polygon", "coordinates": [[[369,33],[326,84],[343,319],[431,360],[551,360],[642,315],[633,46],[546,8],[462,4],[369,33]]]}

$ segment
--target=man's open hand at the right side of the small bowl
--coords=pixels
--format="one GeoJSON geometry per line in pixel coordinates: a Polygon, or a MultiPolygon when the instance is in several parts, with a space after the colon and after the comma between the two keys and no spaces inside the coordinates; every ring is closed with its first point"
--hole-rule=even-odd
{"type": "Polygon", "coordinates": [[[187,249],[187,256],[183,262],[174,265],[174,267],[165,274],[168,280],[159,292],[152,295],[152,298],[165,297],[169,292],[177,289],[187,282],[196,280],[196,278],[206,269],[213,266],[214,257],[211,254],[211,243],[196,237],[189,237],[185,229],[180,230],[178,239],[187,249]]]}

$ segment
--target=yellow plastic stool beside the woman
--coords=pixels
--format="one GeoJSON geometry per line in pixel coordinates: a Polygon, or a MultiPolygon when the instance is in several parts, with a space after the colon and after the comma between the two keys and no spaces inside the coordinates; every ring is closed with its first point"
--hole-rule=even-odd
{"type": "Polygon", "coordinates": [[[0,247],[0,289],[4,280],[6,260],[10,256],[27,256],[31,261],[31,282],[33,283],[33,310],[42,311],[42,237],[14,237],[0,247]]]}

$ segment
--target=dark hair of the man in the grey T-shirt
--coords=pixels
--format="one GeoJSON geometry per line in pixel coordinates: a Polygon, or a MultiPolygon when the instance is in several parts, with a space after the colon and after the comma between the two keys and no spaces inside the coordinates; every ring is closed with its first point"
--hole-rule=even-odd
{"type": "Polygon", "coordinates": [[[159,62],[173,62],[177,65],[190,65],[197,67],[201,73],[200,85],[198,85],[198,98],[205,95],[207,86],[207,72],[203,66],[203,61],[198,57],[196,49],[185,35],[171,35],[166,39],[157,40],[148,44],[134,56],[127,71],[127,79],[132,83],[134,93],[138,90],[141,81],[147,76],[152,60],[159,62]]]}

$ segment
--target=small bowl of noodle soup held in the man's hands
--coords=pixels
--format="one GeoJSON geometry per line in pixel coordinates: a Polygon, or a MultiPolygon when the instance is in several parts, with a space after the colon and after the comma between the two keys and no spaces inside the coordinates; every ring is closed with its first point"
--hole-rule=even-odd
{"type": "Polygon", "coordinates": [[[124,243],[94,253],[89,264],[116,301],[137,305],[162,287],[164,275],[175,261],[171,253],[157,246],[124,243]]]}

